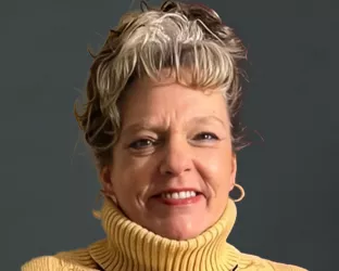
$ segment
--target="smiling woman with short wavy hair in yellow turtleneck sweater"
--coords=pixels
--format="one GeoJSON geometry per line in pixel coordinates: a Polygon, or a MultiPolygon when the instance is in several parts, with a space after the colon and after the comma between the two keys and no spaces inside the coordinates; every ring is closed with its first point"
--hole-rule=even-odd
{"type": "MultiPolygon", "coordinates": [[[[106,238],[22,270],[304,270],[226,242],[236,205],[239,61],[218,15],[166,1],[125,15],[95,56],[84,113],[106,238]]],[[[242,197],[241,196],[241,197],[242,197]]]]}

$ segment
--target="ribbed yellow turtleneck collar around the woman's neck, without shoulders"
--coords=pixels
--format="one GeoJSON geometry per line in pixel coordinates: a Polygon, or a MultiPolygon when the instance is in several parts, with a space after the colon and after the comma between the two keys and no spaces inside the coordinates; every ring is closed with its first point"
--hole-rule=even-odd
{"type": "Polygon", "coordinates": [[[106,271],[115,270],[233,270],[240,253],[226,243],[237,217],[229,199],[218,221],[196,238],[174,241],[130,221],[104,199],[101,221],[106,240],[96,243],[90,255],[106,271]]]}

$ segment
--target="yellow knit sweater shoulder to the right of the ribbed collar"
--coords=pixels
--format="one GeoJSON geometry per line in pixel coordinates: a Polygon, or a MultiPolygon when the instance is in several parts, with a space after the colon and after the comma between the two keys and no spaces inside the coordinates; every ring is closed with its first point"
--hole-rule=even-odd
{"type": "Polygon", "coordinates": [[[298,266],[276,262],[250,254],[241,253],[240,259],[239,271],[307,271],[306,269],[298,266]]]}

